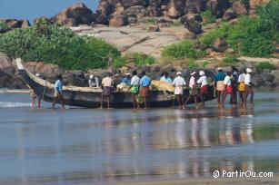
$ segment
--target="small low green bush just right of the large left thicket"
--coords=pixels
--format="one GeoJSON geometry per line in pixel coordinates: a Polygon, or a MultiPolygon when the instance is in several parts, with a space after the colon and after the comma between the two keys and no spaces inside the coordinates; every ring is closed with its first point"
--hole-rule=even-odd
{"type": "Polygon", "coordinates": [[[148,56],[146,54],[137,54],[137,53],[132,55],[126,55],[125,59],[135,63],[138,66],[143,66],[147,64],[150,65],[156,62],[153,56],[148,56]]]}

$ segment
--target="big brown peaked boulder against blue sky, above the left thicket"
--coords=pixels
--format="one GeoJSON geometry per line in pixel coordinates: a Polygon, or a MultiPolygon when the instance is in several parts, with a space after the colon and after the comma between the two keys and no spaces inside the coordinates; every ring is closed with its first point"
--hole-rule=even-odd
{"type": "Polygon", "coordinates": [[[52,17],[52,21],[67,26],[77,26],[79,24],[91,24],[94,22],[93,12],[83,3],[77,3],[66,8],[64,11],[52,17]]]}

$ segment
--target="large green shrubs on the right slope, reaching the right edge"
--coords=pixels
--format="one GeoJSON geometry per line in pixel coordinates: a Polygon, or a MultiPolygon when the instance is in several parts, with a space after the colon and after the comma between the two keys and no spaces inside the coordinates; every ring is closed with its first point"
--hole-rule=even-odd
{"type": "Polygon", "coordinates": [[[204,48],[211,47],[218,37],[224,37],[234,51],[247,56],[264,57],[275,51],[274,41],[279,43],[279,1],[271,0],[260,6],[257,17],[243,16],[238,23],[223,23],[201,38],[204,48]]]}

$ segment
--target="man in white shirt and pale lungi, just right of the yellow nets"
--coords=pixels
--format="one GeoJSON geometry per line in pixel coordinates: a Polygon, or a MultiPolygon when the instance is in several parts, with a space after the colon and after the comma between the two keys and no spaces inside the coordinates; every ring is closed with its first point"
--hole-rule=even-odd
{"type": "Polygon", "coordinates": [[[183,109],[183,95],[184,95],[184,86],[186,85],[186,82],[184,78],[181,76],[181,72],[176,73],[177,77],[174,78],[174,94],[177,98],[177,102],[180,109],[183,109]]]}

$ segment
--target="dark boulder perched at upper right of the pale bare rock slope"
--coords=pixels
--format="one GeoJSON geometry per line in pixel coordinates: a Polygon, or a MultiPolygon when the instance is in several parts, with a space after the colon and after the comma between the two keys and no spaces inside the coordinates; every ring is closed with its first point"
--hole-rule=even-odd
{"type": "Polygon", "coordinates": [[[194,34],[201,34],[203,32],[202,24],[201,24],[201,22],[203,22],[203,18],[201,17],[201,15],[196,15],[196,14],[184,15],[180,19],[180,21],[190,32],[194,34]]]}

